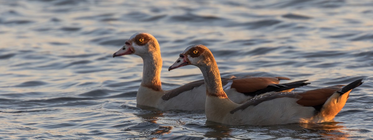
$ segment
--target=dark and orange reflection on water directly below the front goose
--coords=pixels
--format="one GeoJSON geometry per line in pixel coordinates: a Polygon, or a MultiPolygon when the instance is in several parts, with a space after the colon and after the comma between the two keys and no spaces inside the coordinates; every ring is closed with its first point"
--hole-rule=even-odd
{"type": "MultiPolygon", "coordinates": [[[[208,138],[239,138],[239,139],[347,139],[350,134],[344,132],[341,122],[327,122],[323,124],[283,124],[270,126],[224,126],[215,122],[206,122],[202,126],[204,137],[208,138]]],[[[201,130],[201,128],[196,129],[201,130]]]]}

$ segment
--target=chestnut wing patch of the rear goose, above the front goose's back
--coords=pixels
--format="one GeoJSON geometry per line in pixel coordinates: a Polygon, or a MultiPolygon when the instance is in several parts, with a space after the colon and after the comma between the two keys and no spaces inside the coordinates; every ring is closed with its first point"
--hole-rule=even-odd
{"type": "Polygon", "coordinates": [[[249,93],[260,89],[267,88],[269,85],[278,84],[280,80],[290,80],[286,77],[239,77],[232,79],[231,88],[235,88],[238,92],[249,93]]]}

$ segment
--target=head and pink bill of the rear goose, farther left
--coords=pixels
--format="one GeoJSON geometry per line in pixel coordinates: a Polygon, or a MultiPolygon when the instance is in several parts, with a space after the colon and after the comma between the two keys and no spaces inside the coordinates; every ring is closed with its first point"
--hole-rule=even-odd
{"type": "Polygon", "coordinates": [[[157,39],[148,33],[136,33],[125,42],[125,45],[119,51],[113,54],[113,57],[128,54],[143,57],[153,53],[160,53],[157,39]]]}

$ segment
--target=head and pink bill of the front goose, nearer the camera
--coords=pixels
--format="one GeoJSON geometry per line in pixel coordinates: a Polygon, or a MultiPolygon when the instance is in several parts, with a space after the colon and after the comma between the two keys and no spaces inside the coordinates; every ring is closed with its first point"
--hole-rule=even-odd
{"type": "Polygon", "coordinates": [[[215,63],[211,51],[204,45],[191,45],[179,55],[178,60],[168,68],[168,71],[186,66],[194,65],[197,67],[206,67],[215,63]]]}

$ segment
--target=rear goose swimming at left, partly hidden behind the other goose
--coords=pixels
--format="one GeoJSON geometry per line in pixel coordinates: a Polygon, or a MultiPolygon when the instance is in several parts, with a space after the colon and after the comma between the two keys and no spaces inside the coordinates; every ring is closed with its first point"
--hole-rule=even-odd
{"type": "MultiPolygon", "coordinates": [[[[147,33],[132,35],[113,57],[135,54],[142,58],[144,70],[141,85],[136,100],[139,106],[151,106],[162,111],[204,110],[206,87],[203,80],[194,81],[172,90],[162,90],[160,72],[162,58],[156,38],[147,33]]],[[[307,85],[303,81],[279,84],[280,80],[290,80],[286,77],[231,77],[222,78],[224,89],[228,97],[236,103],[242,103],[253,96],[266,92],[291,91],[294,88],[307,85]],[[242,93],[233,92],[237,90],[242,93]]]]}

